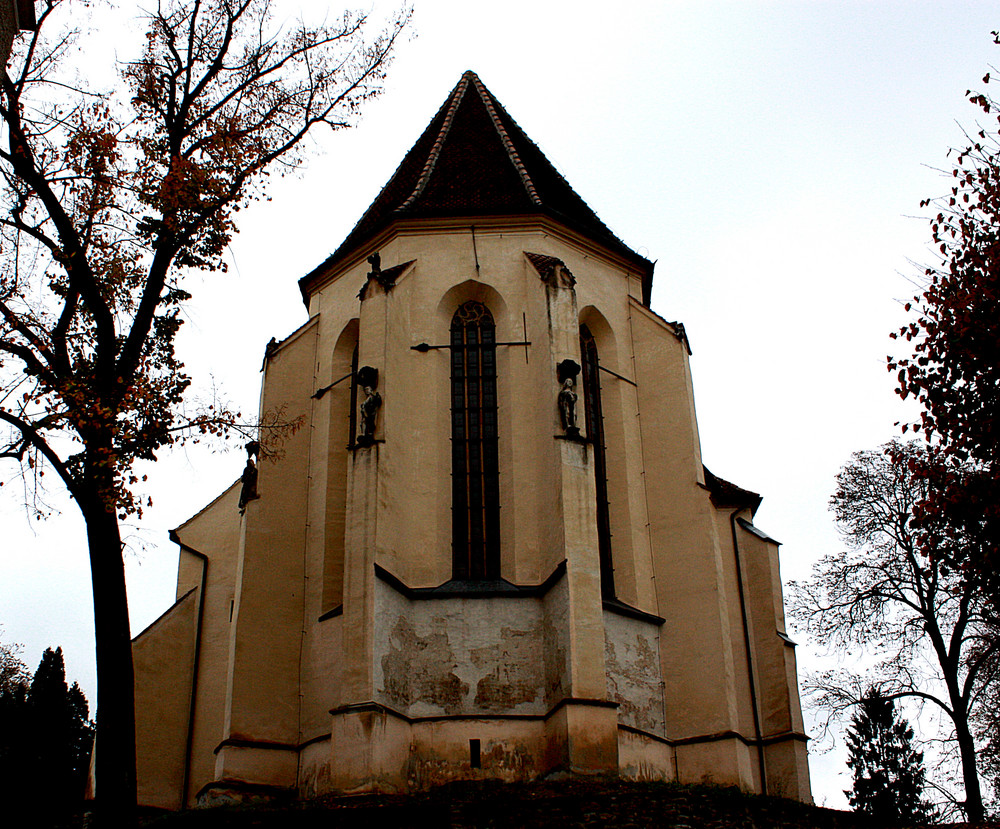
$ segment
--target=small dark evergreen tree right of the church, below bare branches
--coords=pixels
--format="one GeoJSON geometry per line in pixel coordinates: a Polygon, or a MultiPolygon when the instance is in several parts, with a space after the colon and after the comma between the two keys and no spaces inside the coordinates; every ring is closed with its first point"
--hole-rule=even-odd
{"type": "Polygon", "coordinates": [[[869,689],[847,733],[854,788],[844,794],[856,812],[887,823],[931,817],[922,799],[924,755],[912,741],[913,729],[893,701],[869,689]]]}

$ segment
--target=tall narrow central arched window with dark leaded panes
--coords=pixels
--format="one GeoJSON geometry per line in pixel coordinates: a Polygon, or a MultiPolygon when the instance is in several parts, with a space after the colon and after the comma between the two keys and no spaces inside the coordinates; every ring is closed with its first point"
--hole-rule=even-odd
{"type": "Polygon", "coordinates": [[[500,578],[496,326],[481,302],[451,320],[452,577],[500,578]]]}

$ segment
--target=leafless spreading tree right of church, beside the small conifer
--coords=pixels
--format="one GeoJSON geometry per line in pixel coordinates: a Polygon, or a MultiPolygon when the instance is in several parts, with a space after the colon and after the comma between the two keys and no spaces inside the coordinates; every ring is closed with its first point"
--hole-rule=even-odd
{"type": "Polygon", "coordinates": [[[963,578],[917,546],[914,506],[932,463],[922,443],[857,452],[837,476],[830,505],[848,550],[827,556],[792,586],[792,617],[818,643],[874,662],[866,677],[827,671],[807,693],[839,717],[876,686],[881,698],[910,699],[944,715],[957,747],[963,808],[982,820],[973,721],[995,681],[1000,637],[975,578],[963,578]]]}

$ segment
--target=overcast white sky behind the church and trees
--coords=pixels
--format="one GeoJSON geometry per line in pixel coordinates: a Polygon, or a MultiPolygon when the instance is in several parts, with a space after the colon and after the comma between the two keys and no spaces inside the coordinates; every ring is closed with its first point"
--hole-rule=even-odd
{"type": "MultiPolygon", "coordinates": [[[[320,4],[275,5],[294,16],[320,4]]],[[[256,410],[264,344],[306,317],[297,279],[337,247],[473,69],[605,223],[657,260],[653,309],[683,322],[694,350],[705,463],[764,495],[756,523],[784,542],[786,581],[808,575],[840,549],[826,508],[837,470],[912,415],[885,369],[888,335],[914,290],[911,261],[931,256],[919,201],[947,189],[934,168],[962,140],[958,123],[974,124],[963,92],[1000,62],[996,4],[415,5],[416,37],[361,125],[317,135],[308,168],[243,214],[229,273],[189,285],[180,348],[196,385],[256,410]]],[[[102,22],[94,71],[132,51],[138,31],[102,22]]],[[[189,449],[149,470],[154,507],[130,535],[133,633],[173,600],[167,530],[243,460],[189,449]]],[[[0,490],[0,637],[22,643],[32,668],[61,645],[93,702],[82,523],[57,492],[56,514],[29,521],[20,495],[0,490]]],[[[800,671],[820,664],[805,641],[799,659],[800,671]]],[[[817,802],[843,806],[842,757],[811,762],[817,802]]]]}

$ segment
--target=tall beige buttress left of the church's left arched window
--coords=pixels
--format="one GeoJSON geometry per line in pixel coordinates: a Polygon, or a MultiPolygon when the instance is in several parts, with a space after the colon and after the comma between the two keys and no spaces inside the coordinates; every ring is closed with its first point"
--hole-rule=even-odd
{"type": "MultiPolygon", "coordinates": [[[[261,412],[302,426],[280,446],[280,459],[259,466],[259,499],[247,505],[229,642],[225,741],[215,777],[287,785],[275,745],[300,742],[300,653],[316,388],[316,325],[310,322],[270,356],[261,412]],[[247,743],[275,757],[275,774],[247,743]],[[261,774],[262,777],[246,777],[261,774]]],[[[293,761],[293,769],[294,769],[293,761]]],[[[294,782],[294,772],[292,775],[294,782]]]]}

